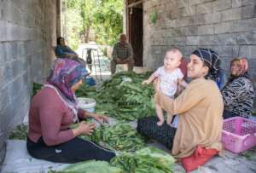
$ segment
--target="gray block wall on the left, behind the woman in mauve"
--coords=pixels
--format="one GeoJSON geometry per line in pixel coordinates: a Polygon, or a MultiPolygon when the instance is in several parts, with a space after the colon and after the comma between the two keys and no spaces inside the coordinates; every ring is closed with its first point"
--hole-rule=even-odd
{"type": "Polygon", "coordinates": [[[57,0],[0,0],[0,165],[9,131],[28,112],[32,81],[54,59],[57,0]]]}

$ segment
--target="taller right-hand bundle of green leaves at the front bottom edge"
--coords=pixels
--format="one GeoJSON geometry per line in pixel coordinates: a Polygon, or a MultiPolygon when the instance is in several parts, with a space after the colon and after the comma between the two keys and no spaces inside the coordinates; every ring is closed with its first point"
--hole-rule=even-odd
{"type": "Polygon", "coordinates": [[[175,159],[160,149],[144,147],[136,153],[122,153],[111,160],[111,165],[129,173],[172,173],[175,159]]]}

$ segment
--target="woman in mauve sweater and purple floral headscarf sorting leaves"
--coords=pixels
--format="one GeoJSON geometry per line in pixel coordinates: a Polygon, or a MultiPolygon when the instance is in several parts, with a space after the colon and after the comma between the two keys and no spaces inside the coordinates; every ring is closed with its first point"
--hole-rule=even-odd
{"type": "Polygon", "coordinates": [[[77,163],[88,159],[109,161],[115,153],[91,141],[78,138],[90,136],[96,124],[79,123],[80,119],[95,118],[108,121],[108,117],[86,112],[78,107],[74,91],[82,84],[87,72],[78,61],[57,58],[47,83],[32,98],[29,112],[27,151],[32,157],[59,163],[77,163]]]}

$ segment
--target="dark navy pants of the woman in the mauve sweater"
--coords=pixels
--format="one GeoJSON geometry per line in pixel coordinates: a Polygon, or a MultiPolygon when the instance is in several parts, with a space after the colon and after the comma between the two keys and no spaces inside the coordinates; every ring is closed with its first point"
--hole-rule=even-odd
{"type": "Polygon", "coordinates": [[[115,156],[112,151],[78,137],[56,146],[47,146],[42,137],[37,143],[27,137],[26,148],[36,159],[68,164],[89,159],[110,161],[115,156]]]}

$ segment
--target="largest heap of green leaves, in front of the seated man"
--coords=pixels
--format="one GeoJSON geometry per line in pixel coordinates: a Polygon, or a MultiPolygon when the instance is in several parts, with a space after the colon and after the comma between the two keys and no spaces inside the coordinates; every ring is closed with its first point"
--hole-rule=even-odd
{"type": "Polygon", "coordinates": [[[90,87],[83,86],[76,95],[94,98],[96,112],[108,114],[119,120],[131,121],[151,116],[154,115],[154,89],[152,85],[142,85],[143,80],[149,75],[149,72],[119,72],[111,80],[105,81],[94,94],[90,87]]]}

